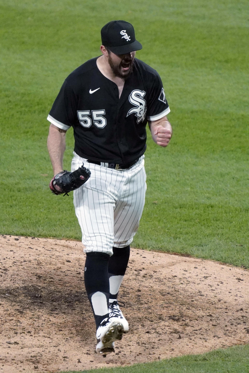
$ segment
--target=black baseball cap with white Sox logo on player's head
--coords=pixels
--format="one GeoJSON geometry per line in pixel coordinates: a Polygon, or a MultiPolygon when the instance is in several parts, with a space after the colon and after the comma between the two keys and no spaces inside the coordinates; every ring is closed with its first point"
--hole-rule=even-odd
{"type": "Polygon", "coordinates": [[[105,47],[115,54],[130,53],[142,49],[135,38],[133,25],[125,21],[111,21],[101,29],[101,40],[105,47]]]}

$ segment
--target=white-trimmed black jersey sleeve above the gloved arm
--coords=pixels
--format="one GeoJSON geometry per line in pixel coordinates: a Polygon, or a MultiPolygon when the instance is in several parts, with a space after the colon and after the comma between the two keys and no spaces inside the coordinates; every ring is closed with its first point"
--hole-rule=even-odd
{"type": "Polygon", "coordinates": [[[55,126],[68,130],[76,120],[78,97],[73,85],[66,79],[60,88],[47,120],[55,126]]]}

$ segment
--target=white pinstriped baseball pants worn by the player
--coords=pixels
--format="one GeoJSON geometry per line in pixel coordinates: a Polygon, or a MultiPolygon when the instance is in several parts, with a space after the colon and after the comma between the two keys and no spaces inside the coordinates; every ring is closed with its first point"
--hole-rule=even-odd
{"type": "Polygon", "coordinates": [[[115,170],[88,163],[74,152],[71,171],[82,163],[91,176],[74,191],[74,207],[84,252],[112,255],[112,247],[130,245],[138,229],[146,192],[144,156],[129,169],[115,170]]]}

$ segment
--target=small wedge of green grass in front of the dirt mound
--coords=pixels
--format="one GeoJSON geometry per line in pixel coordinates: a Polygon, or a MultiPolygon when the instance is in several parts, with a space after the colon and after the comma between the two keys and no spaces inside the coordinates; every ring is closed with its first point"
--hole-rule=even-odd
{"type": "MultiPolygon", "coordinates": [[[[79,371],[78,371],[79,372],[79,371]]],[[[153,363],[118,368],[81,370],[79,373],[248,373],[249,346],[235,346],[203,355],[187,355],[153,363]]],[[[61,372],[65,373],[65,372],[61,372]]],[[[75,371],[68,373],[76,373],[75,371]]]]}

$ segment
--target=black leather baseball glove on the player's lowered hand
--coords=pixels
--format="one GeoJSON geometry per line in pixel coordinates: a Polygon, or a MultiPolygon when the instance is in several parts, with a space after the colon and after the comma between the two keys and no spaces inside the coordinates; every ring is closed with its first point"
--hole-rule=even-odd
{"type": "Polygon", "coordinates": [[[83,167],[84,163],[80,168],[73,172],[67,170],[57,173],[50,181],[49,188],[53,194],[63,194],[68,195],[68,192],[80,188],[81,185],[90,178],[91,172],[88,168],[83,167]],[[61,192],[56,189],[55,186],[59,186],[62,190],[61,192]]]}

